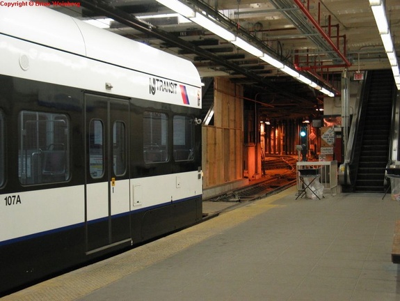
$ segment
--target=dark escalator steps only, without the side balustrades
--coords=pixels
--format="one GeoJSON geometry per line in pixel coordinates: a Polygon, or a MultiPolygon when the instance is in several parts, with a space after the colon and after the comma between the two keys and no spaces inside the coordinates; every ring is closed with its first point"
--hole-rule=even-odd
{"type": "Polygon", "coordinates": [[[355,192],[383,192],[392,123],[392,70],[370,71],[355,192]]]}

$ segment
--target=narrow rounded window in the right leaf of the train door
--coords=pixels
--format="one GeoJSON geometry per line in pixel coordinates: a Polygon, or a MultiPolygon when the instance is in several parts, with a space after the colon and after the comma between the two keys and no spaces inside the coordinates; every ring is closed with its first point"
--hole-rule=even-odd
{"type": "Polygon", "coordinates": [[[125,123],[113,125],[113,169],[115,176],[123,176],[127,170],[127,134],[125,123]]]}

